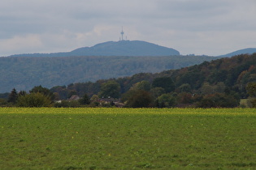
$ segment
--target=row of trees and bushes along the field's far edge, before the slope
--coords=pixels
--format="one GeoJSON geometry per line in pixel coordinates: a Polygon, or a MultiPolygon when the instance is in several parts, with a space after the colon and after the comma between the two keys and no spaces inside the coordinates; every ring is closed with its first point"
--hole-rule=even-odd
{"type": "MultiPolygon", "coordinates": [[[[235,91],[224,89],[223,93],[194,94],[189,84],[175,87],[169,77],[156,78],[152,83],[141,81],[132,85],[124,94],[120,93],[120,85],[115,80],[102,83],[97,95],[85,94],[80,100],[62,100],[56,102],[58,96],[46,87],[33,87],[29,93],[11,91],[5,105],[19,107],[81,107],[99,106],[102,99],[106,100],[102,106],[114,106],[114,101],[120,100],[125,107],[131,108],[171,108],[171,107],[198,107],[198,108],[234,108],[240,104],[240,96],[235,91]]],[[[246,87],[249,94],[249,104],[256,107],[256,83],[249,83],[246,87]]],[[[1,104],[1,102],[0,102],[1,104]]]]}

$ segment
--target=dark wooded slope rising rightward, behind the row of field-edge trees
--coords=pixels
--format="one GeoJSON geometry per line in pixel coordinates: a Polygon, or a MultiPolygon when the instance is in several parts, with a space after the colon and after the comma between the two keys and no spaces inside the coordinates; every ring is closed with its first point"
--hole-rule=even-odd
{"type": "MultiPolygon", "coordinates": [[[[178,70],[166,70],[156,74],[134,74],[130,77],[114,80],[119,83],[121,94],[124,94],[137,83],[147,81],[152,84],[154,79],[163,77],[171,77],[177,93],[182,92],[184,87],[189,87],[190,92],[198,95],[235,91],[239,95],[238,98],[241,99],[246,97],[246,85],[250,82],[256,82],[256,53],[220,58],[211,62],[203,62],[178,70]]],[[[113,79],[98,80],[96,83],[74,83],[67,87],[53,87],[51,91],[59,93],[63,99],[74,92],[79,96],[83,96],[85,93],[92,96],[98,94],[102,83],[109,80],[113,79]]],[[[184,91],[188,91],[188,89],[184,91]]]]}

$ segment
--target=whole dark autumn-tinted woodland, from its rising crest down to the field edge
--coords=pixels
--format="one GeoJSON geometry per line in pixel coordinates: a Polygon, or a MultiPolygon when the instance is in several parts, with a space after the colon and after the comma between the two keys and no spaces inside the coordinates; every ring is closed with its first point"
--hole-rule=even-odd
{"type": "MultiPolygon", "coordinates": [[[[18,94],[14,90],[11,94],[28,96],[24,91],[18,94]]],[[[33,91],[43,91],[48,98],[50,96],[50,100],[65,101],[54,104],[56,107],[83,104],[111,106],[119,102],[122,106],[133,108],[233,108],[240,105],[241,99],[247,98],[249,106],[256,107],[256,53],[220,58],[155,74],[140,73],[118,79],[99,79],[95,83],[71,83],[48,90],[39,86],[34,87],[29,95],[33,91]],[[80,97],[80,100],[70,100],[74,96],[80,97]]],[[[9,100],[11,94],[8,94],[9,100]]]]}

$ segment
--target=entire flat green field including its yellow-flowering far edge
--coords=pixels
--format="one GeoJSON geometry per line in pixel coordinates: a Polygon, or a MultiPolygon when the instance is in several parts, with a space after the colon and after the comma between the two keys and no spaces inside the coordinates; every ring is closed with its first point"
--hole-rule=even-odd
{"type": "Polygon", "coordinates": [[[253,108],[0,108],[0,169],[256,169],[253,108]]]}

